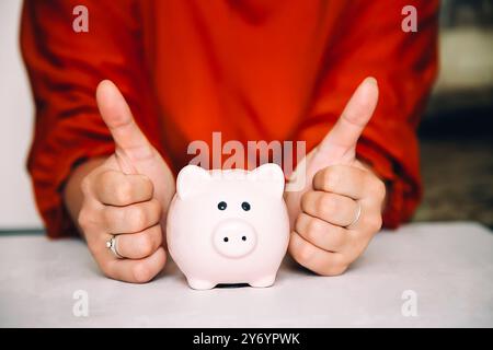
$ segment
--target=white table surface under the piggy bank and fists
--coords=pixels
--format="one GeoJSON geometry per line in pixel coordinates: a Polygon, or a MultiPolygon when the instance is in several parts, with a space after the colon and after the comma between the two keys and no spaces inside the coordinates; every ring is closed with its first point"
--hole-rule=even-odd
{"type": "Polygon", "coordinates": [[[272,288],[191,290],[174,264],[147,284],[104,278],[78,240],[0,236],[1,327],[493,327],[493,234],[474,223],[378,234],[340,277],[285,261],[272,288]],[[89,316],[76,317],[84,290],[89,316]],[[417,296],[403,316],[402,293],[417,296]]]}

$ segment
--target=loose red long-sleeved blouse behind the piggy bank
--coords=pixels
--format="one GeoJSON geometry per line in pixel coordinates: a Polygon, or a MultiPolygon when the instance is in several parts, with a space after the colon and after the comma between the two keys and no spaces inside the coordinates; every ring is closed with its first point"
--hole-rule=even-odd
{"type": "Polygon", "coordinates": [[[51,237],[74,233],[61,196],[71,168],[114,150],[95,105],[113,80],[156,148],[180,170],[193,140],[306,140],[330,130],[357,84],[377,78],[380,102],[358,156],[389,183],[385,225],[421,198],[416,126],[437,70],[438,1],[25,1],[21,47],[36,104],[28,158],[51,237]],[[89,32],[76,33],[76,5],[89,32]]]}

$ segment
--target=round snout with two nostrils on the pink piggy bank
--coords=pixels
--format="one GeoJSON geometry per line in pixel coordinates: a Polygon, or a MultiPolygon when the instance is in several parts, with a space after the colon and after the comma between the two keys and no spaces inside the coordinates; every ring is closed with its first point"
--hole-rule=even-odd
{"type": "Polygon", "coordinates": [[[213,245],[223,257],[241,258],[255,248],[256,232],[243,220],[229,219],[221,222],[214,231],[213,245]]]}

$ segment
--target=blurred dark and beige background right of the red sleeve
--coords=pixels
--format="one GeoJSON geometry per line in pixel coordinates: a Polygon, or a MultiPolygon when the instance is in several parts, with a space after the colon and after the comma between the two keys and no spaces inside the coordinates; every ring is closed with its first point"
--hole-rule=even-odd
{"type": "Polygon", "coordinates": [[[419,130],[424,200],[415,221],[493,228],[493,1],[444,0],[440,72],[419,130]]]}

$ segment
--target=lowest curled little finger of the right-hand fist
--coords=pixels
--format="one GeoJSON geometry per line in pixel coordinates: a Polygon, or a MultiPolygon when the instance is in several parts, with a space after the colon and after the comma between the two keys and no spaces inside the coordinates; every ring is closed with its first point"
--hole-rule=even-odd
{"type": "Polygon", "coordinates": [[[348,264],[340,253],[325,252],[303,240],[296,232],[289,240],[289,254],[301,266],[323,276],[336,276],[343,273],[348,264]]]}

